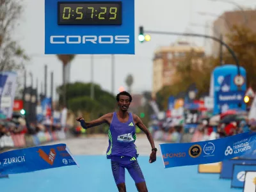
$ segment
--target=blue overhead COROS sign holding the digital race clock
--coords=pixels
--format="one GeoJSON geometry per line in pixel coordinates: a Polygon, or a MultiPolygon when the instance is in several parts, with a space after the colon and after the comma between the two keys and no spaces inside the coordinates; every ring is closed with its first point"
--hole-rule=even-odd
{"type": "Polygon", "coordinates": [[[134,0],[45,0],[45,54],[135,54],[134,0]]]}

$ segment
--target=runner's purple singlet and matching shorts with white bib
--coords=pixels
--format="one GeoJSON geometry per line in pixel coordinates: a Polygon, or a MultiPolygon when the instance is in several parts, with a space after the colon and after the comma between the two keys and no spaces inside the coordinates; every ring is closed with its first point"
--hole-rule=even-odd
{"type": "Polygon", "coordinates": [[[122,123],[118,120],[116,112],[114,112],[108,136],[107,158],[111,159],[111,168],[116,184],[125,182],[125,168],[135,183],[145,182],[136,159],[139,154],[134,144],[136,131],[132,113],[129,113],[128,121],[122,123]]]}

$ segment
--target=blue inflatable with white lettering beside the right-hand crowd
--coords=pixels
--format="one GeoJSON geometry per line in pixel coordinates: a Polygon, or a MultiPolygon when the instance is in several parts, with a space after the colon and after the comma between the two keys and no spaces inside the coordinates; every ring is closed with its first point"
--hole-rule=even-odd
{"type": "MultiPolygon", "coordinates": [[[[243,79],[246,79],[246,71],[240,67],[243,79]]],[[[246,92],[246,81],[241,86],[236,84],[237,66],[223,65],[214,68],[211,77],[210,95],[214,98],[214,114],[225,113],[228,109],[246,110],[244,94],[246,92]]]]}

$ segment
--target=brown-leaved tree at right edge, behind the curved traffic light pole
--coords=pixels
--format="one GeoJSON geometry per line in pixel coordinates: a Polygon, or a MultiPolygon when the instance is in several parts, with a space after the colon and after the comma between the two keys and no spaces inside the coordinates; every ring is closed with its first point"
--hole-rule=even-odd
{"type": "MultiPolygon", "coordinates": [[[[245,68],[247,86],[256,90],[256,33],[244,26],[232,26],[231,33],[227,34],[229,46],[236,53],[240,65],[245,68]]],[[[234,63],[232,56],[225,51],[225,63],[234,63]]]]}

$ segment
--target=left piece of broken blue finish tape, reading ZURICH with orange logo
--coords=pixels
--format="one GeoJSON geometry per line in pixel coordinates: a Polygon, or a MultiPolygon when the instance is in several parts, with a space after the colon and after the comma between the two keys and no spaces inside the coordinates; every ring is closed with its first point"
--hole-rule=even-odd
{"type": "Polygon", "coordinates": [[[23,148],[0,154],[0,173],[35,172],[61,166],[77,165],[66,144],[23,148]]]}

